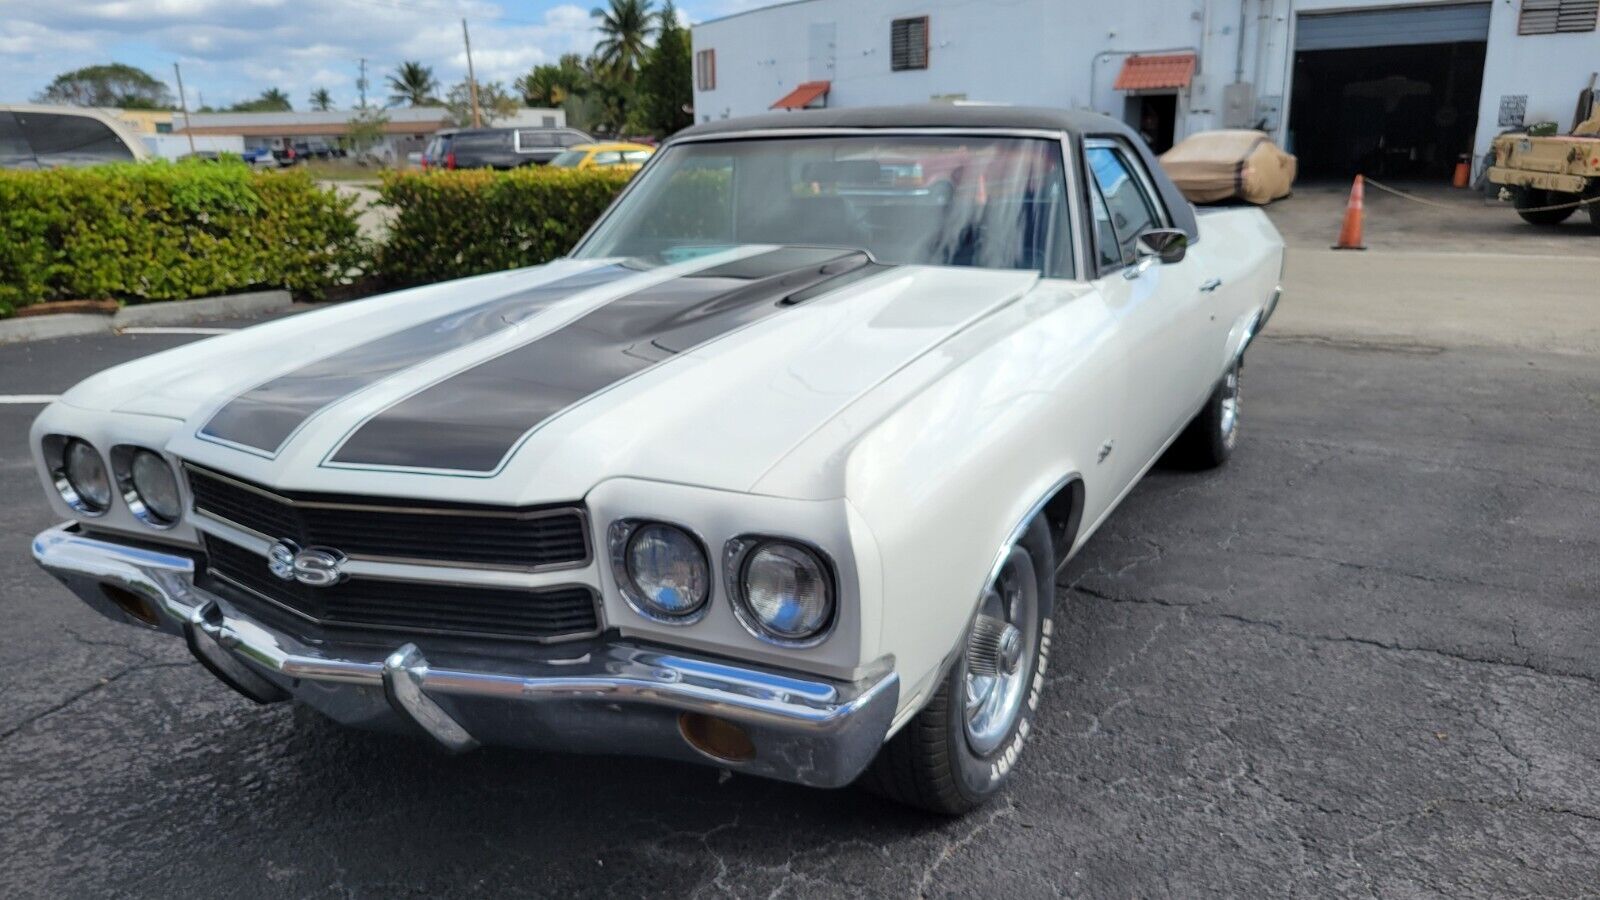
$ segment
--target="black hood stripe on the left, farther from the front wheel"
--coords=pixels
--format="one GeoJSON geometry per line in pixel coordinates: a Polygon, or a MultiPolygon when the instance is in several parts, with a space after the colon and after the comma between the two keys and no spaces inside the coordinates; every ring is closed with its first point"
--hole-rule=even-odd
{"type": "Polygon", "coordinates": [[[634,274],[638,269],[627,266],[587,269],[320,359],[234,397],[206,421],[200,439],[277,456],[296,431],[344,397],[427,359],[510,328],[578,291],[634,274]]]}

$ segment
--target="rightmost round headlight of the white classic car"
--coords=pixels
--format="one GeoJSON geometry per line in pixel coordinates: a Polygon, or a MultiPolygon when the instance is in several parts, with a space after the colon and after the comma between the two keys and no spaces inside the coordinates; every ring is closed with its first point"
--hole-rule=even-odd
{"type": "Polygon", "coordinates": [[[744,557],[739,601],[746,625],[782,644],[816,639],[834,620],[827,565],[789,541],[765,541],[744,557]]]}

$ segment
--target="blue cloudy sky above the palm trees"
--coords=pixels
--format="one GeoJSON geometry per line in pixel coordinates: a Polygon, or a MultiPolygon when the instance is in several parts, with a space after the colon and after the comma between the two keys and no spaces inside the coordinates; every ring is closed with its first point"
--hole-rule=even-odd
{"type": "MultiPolygon", "coordinates": [[[[357,101],[363,56],[376,99],[387,94],[384,74],[402,59],[432,66],[443,85],[464,80],[462,16],[478,78],[509,85],[538,62],[587,53],[597,2],[0,0],[0,102],[29,101],[56,74],[96,62],[139,66],[173,86],[176,61],[190,106],[227,106],[277,86],[306,109],[310,91],[325,86],[347,107],[357,101]]],[[[678,6],[698,22],[770,2],[678,6]]]]}

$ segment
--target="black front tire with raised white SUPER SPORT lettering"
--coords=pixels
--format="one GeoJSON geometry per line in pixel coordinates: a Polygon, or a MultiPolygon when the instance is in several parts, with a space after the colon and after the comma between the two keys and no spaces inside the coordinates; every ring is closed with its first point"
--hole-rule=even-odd
{"type": "MultiPolygon", "coordinates": [[[[1006,716],[1010,724],[994,730],[998,735],[994,749],[986,753],[974,749],[976,738],[968,730],[966,705],[968,657],[973,653],[970,644],[978,621],[974,617],[974,625],[968,626],[968,634],[963,637],[963,650],[955,665],[950,666],[938,693],[899,733],[883,745],[877,759],[861,775],[858,783],[869,791],[939,815],[962,815],[998,794],[1016,770],[1022,745],[1034,730],[1034,714],[1043,689],[1042,676],[1050,658],[1056,557],[1043,516],[1035,519],[1022,538],[1006,549],[1008,552],[1024,551],[1037,589],[1034,602],[1037,625],[1030,636],[1032,649],[1019,650],[1013,657],[1024,668],[1019,673],[1021,700],[1014,713],[1006,716]]],[[[1005,578],[1003,572],[1006,570],[1018,572],[1010,564],[1002,565],[1000,580],[1005,578]]],[[[1029,637],[1022,641],[1029,641],[1029,637]]],[[[1011,666],[1011,671],[1016,673],[1016,666],[1011,666]]]]}

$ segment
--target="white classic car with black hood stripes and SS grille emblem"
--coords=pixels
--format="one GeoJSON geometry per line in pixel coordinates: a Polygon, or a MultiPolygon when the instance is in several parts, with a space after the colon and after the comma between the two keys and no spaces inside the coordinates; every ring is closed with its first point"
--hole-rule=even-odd
{"type": "Polygon", "coordinates": [[[699,125],[565,259],[83,381],[34,554],[261,703],[955,814],[1029,737],[1056,570],[1234,448],[1282,261],[1098,115],[699,125]]]}

